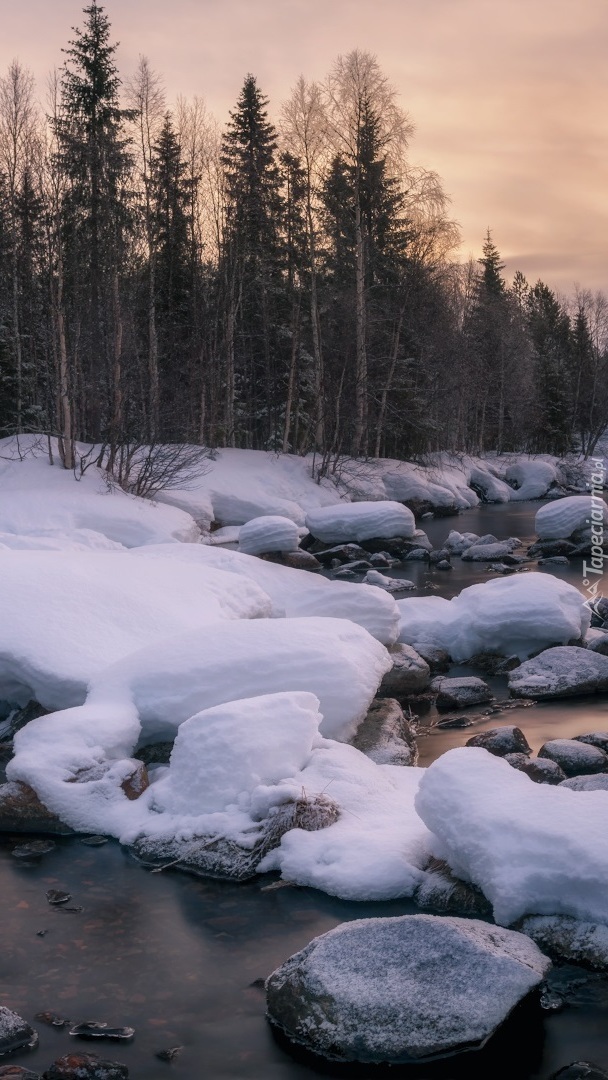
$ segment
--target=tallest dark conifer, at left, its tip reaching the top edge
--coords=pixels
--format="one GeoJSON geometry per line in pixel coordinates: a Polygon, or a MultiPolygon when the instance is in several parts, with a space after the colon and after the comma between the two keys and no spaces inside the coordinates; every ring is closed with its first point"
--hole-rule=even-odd
{"type": "Polygon", "coordinates": [[[56,168],[67,181],[60,207],[65,303],[72,363],[78,355],[80,434],[119,437],[122,423],[121,276],[132,225],[132,156],[120,79],[104,9],[83,9],[84,28],[64,50],[62,103],[52,126],[56,168]],[[111,404],[109,404],[109,401],[111,404]]]}

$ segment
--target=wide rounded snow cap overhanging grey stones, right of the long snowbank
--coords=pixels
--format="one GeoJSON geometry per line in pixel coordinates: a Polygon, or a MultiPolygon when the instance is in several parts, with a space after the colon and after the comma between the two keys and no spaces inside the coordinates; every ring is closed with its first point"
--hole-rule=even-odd
{"type": "Polygon", "coordinates": [[[451,600],[424,596],[396,605],[401,642],[430,642],[454,660],[488,651],[525,659],[556,642],[584,637],[591,621],[578,589],[536,572],[470,585],[451,600]]]}

